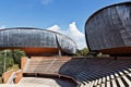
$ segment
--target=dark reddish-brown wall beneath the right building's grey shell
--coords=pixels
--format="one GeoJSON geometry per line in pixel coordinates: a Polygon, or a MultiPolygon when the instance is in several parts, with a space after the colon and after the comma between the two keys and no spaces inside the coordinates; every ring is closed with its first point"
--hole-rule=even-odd
{"type": "Polygon", "coordinates": [[[110,48],[110,49],[103,49],[99,50],[104,54],[131,54],[131,47],[119,47],[119,48],[110,48]]]}

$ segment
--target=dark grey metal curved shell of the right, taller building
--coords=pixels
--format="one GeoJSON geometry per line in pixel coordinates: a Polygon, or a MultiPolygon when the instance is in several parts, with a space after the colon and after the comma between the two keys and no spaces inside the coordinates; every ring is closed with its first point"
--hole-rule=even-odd
{"type": "Polygon", "coordinates": [[[85,37],[92,51],[131,47],[131,1],[96,11],[85,23],[85,37]]]}

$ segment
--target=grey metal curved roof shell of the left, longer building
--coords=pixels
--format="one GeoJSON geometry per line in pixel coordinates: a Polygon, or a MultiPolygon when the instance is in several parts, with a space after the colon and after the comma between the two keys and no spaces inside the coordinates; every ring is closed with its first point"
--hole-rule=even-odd
{"type": "Polygon", "coordinates": [[[7,47],[59,48],[70,54],[74,54],[76,51],[76,44],[68,36],[32,27],[0,29],[0,48],[7,47]]]}

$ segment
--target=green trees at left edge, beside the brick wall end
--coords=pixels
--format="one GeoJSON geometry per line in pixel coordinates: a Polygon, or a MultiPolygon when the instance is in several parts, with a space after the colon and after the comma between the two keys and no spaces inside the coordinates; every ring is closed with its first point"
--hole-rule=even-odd
{"type": "Polygon", "coordinates": [[[5,72],[9,67],[15,64],[21,64],[21,58],[25,57],[25,52],[21,50],[2,50],[0,51],[0,75],[5,72]],[[5,70],[4,67],[5,61],[5,70]]]}

